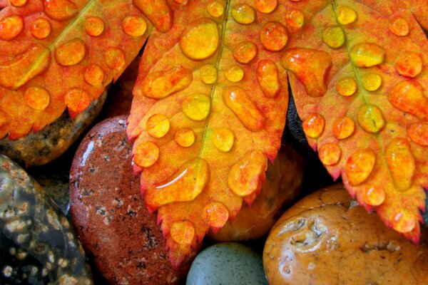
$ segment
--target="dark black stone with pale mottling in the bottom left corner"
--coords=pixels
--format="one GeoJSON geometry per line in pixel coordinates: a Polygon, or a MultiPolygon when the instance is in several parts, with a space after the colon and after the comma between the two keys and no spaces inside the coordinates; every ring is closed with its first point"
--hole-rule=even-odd
{"type": "Polygon", "coordinates": [[[43,188],[4,155],[0,183],[0,284],[92,284],[76,234],[43,188]]]}

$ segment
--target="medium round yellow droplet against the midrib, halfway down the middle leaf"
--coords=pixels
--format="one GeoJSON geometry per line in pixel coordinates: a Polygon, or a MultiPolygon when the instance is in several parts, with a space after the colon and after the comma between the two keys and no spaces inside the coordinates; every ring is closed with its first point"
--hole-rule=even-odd
{"type": "Polygon", "coordinates": [[[211,100],[207,95],[195,93],[183,100],[181,108],[190,120],[204,120],[210,113],[211,100]]]}

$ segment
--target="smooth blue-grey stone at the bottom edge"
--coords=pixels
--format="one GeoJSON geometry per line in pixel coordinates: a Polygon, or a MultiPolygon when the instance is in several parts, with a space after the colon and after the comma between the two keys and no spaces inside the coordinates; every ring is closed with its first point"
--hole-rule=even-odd
{"type": "Polygon", "coordinates": [[[267,284],[262,257],[242,244],[228,242],[204,249],[190,266],[187,285],[267,284]]]}

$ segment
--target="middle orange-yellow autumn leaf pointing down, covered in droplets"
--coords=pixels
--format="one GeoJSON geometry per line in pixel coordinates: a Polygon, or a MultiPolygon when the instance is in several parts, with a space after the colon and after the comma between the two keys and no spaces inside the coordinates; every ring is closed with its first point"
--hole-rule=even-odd
{"type": "Polygon", "coordinates": [[[146,204],[178,266],[210,227],[253,202],[277,155],[287,30],[238,1],[172,9],[173,27],[155,31],[143,53],[127,131],[146,204]]]}

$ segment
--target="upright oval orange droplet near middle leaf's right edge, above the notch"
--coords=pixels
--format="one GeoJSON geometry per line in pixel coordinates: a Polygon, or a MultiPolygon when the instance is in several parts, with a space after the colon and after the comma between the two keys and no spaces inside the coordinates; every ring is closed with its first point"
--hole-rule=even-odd
{"type": "Polygon", "coordinates": [[[280,81],[275,63],[269,59],[259,61],[256,71],[257,81],[267,98],[274,98],[280,93],[280,81]]]}

